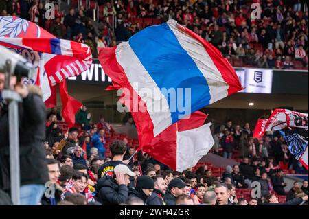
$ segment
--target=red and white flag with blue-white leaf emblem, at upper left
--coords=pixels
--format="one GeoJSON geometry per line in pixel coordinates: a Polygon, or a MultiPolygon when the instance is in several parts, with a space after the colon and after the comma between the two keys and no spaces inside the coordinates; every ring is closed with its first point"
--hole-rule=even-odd
{"type": "Polygon", "coordinates": [[[92,62],[90,48],[82,43],[58,39],[35,23],[12,16],[0,17],[0,45],[23,55],[36,66],[36,76],[27,83],[41,87],[47,107],[56,106],[55,86],[60,83],[61,95],[67,95],[62,96],[62,115],[68,125],[73,126],[73,115],[67,112],[76,112],[81,104],[69,97],[65,78],[78,76],[89,69],[92,62]]]}

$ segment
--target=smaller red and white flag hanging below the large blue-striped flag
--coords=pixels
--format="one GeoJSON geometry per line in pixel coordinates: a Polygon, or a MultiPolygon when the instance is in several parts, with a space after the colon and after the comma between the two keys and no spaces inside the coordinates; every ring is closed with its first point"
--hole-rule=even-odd
{"type": "Polygon", "coordinates": [[[148,144],[141,142],[141,150],[183,172],[192,168],[214,145],[211,123],[204,124],[207,115],[197,111],[185,119],[172,124],[148,144]]]}

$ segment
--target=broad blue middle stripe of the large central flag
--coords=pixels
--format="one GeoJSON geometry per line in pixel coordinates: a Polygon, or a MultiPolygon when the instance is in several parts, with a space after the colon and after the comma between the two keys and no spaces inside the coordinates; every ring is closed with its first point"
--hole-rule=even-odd
{"type": "Polygon", "coordinates": [[[183,89],[183,95],[176,95],[176,100],[171,100],[170,95],[163,93],[168,100],[172,123],[179,120],[179,115],[185,117],[209,105],[211,96],[207,80],[167,23],[148,27],[135,34],[129,44],[159,89],[183,89]],[[177,105],[178,98],[182,97],[181,106],[185,106],[185,88],[191,89],[190,112],[184,112],[177,105]],[[176,106],[176,112],[172,110],[173,106],[176,106]]]}

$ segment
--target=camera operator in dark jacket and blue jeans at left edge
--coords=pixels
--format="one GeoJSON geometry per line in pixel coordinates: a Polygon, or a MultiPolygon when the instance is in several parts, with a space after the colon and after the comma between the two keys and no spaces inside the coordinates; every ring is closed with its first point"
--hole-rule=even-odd
{"type": "MultiPolygon", "coordinates": [[[[0,93],[3,82],[0,77],[0,93]]],[[[42,145],[45,139],[45,105],[38,87],[16,84],[14,89],[23,99],[19,104],[21,205],[38,205],[49,180],[42,145]]],[[[9,145],[8,106],[4,105],[0,111],[0,189],[5,192],[11,189],[9,145]]]]}

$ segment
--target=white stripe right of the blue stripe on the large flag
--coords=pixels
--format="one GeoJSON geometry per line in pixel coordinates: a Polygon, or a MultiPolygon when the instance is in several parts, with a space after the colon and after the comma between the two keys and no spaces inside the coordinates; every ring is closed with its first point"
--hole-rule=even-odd
{"type": "Polygon", "coordinates": [[[209,104],[227,97],[227,89],[229,89],[229,85],[223,80],[220,71],[216,65],[214,65],[214,62],[211,60],[204,46],[196,41],[196,39],[181,32],[181,30],[176,27],[176,21],[169,20],[168,25],[172,32],[174,32],[181,47],[183,47],[183,49],[187,51],[187,54],[191,56],[196,66],[207,80],[211,96],[209,104]]]}

